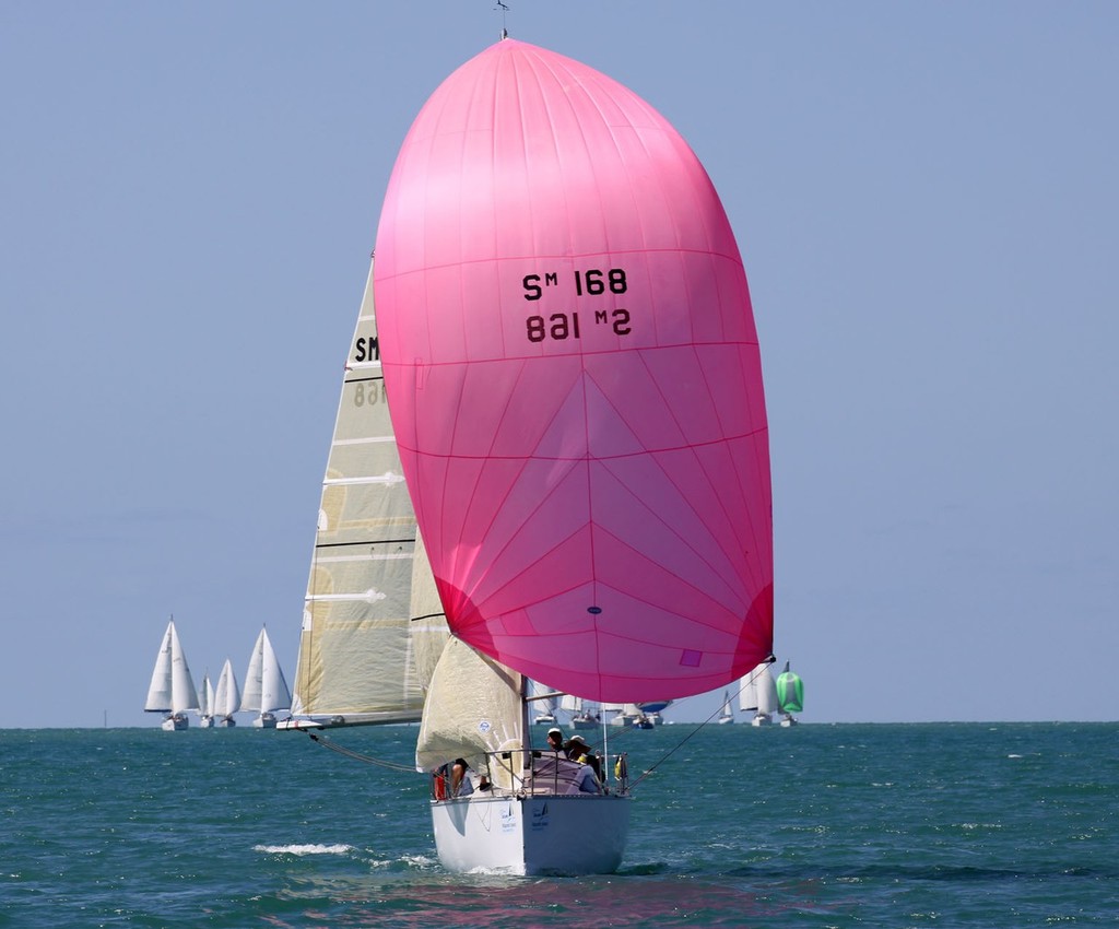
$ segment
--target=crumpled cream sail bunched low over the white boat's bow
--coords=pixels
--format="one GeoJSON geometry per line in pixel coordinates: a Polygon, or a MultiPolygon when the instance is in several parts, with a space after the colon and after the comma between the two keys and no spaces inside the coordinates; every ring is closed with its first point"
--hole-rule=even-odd
{"type": "Polygon", "coordinates": [[[513,787],[510,771],[518,767],[521,748],[521,677],[449,639],[431,679],[416,740],[416,770],[431,771],[466,760],[476,771],[490,772],[498,787],[513,787]],[[513,753],[509,764],[491,766],[487,752],[513,753]]]}

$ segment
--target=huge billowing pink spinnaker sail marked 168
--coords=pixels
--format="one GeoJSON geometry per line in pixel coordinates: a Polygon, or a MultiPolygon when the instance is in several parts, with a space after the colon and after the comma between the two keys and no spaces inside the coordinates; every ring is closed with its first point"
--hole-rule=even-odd
{"type": "Polygon", "coordinates": [[[401,460],[455,636],[558,691],[722,687],[772,639],[745,272],[683,138],[516,40],[431,96],[374,271],[401,460]]]}

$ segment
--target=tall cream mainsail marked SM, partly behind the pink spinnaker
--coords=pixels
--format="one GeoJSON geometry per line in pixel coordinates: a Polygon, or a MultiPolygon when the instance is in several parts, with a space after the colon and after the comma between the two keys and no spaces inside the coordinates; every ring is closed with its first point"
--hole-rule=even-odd
{"type": "Polygon", "coordinates": [[[294,715],[419,721],[446,637],[434,580],[422,580],[430,573],[388,417],[370,264],[322,482],[294,715]],[[434,651],[426,677],[416,674],[416,645],[434,651]]]}

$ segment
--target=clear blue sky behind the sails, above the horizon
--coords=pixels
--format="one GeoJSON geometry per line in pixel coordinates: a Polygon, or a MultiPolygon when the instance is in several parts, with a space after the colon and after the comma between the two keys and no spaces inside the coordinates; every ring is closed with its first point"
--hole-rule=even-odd
{"type": "MultiPolygon", "coordinates": [[[[805,721],[1119,719],[1119,6],[509,4],[727,208],[805,721]]],[[[0,4],[0,724],[154,725],[170,613],[292,676],[388,173],[495,6],[0,4]]]]}

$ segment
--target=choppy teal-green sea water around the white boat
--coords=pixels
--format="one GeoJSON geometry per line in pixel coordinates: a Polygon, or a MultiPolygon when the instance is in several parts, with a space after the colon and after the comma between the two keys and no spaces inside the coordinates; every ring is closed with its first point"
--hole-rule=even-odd
{"type": "MultiPolygon", "coordinates": [[[[406,763],[414,736],[335,739],[406,763]]],[[[423,778],[305,735],[0,730],[0,926],[1119,925],[1119,724],[679,724],[613,747],[655,767],[619,874],[462,878],[423,778]]]]}

